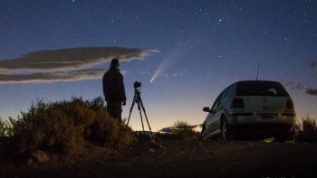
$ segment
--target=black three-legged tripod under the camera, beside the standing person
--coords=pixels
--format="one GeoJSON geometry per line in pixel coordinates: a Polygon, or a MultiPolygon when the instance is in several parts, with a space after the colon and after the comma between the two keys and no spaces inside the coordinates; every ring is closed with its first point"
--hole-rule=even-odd
{"type": "MultiPolygon", "coordinates": [[[[146,135],[145,134],[145,130],[144,130],[144,124],[143,124],[143,117],[142,117],[141,108],[142,108],[144,116],[145,116],[145,118],[147,120],[148,126],[149,126],[149,119],[148,119],[147,113],[145,112],[145,108],[143,106],[142,98],[140,96],[140,88],[136,88],[136,87],[134,88],[134,97],[133,97],[132,105],[131,105],[131,108],[130,108],[130,114],[129,114],[127,125],[129,125],[132,109],[133,109],[135,103],[137,103],[137,105],[138,105],[139,117],[141,118],[143,134],[146,135]]],[[[149,126],[149,132],[150,132],[150,135],[153,137],[153,133],[152,133],[152,130],[151,130],[150,126],[149,126]]]]}

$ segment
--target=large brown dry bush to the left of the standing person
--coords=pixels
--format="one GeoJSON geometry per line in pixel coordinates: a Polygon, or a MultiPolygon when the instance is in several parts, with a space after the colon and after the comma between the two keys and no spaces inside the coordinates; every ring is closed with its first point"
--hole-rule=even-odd
{"type": "Polygon", "coordinates": [[[133,141],[131,129],[109,117],[103,99],[49,104],[38,101],[17,120],[11,119],[15,142],[20,150],[43,149],[75,155],[86,141],[100,140],[108,146],[127,146],[133,141]]]}

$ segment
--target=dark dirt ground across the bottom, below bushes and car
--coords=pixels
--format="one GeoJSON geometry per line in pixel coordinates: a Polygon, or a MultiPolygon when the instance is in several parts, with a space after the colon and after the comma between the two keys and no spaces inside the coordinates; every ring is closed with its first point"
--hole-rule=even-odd
{"type": "MultiPolygon", "coordinates": [[[[1,145],[0,145],[1,146],[1,145]]],[[[0,177],[315,177],[317,144],[139,140],[84,148],[74,161],[27,165],[1,153],[0,177]]]]}

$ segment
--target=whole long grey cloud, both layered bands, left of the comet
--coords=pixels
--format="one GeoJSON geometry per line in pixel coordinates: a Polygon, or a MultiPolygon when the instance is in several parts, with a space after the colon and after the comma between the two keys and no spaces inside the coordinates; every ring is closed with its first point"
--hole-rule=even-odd
{"type": "Polygon", "coordinates": [[[155,50],[120,47],[83,47],[30,52],[0,61],[0,84],[101,79],[104,69],[92,66],[109,62],[143,60],[155,50]]]}

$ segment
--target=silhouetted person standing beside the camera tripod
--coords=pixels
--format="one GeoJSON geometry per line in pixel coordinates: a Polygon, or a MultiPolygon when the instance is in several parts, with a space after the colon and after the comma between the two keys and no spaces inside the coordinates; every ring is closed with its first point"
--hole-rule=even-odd
{"type": "Polygon", "coordinates": [[[112,59],[110,70],[106,71],[103,75],[102,86],[110,117],[121,121],[122,105],[126,105],[127,98],[118,59],[112,59]]]}

